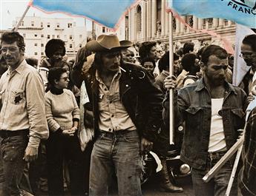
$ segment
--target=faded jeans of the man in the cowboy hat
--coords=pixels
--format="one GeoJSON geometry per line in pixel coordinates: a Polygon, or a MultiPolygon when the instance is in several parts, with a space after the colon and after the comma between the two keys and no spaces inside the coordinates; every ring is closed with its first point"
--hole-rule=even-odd
{"type": "Polygon", "coordinates": [[[91,154],[90,195],[108,195],[113,172],[118,194],[140,196],[140,138],[137,131],[100,132],[91,154]]]}

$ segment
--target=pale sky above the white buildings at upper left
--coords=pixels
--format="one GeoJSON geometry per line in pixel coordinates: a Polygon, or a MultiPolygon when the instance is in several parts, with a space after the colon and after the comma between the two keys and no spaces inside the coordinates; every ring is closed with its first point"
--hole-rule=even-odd
{"type": "MultiPolygon", "coordinates": [[[[26,10],[30,0],[0,0],[0,30],[12,29],[13,21],[16,17],[21,17],[26,10]]],[[[70,18],[62,13],[47,14],[33,7],[30,7],[26,16],[40,16],[42,18],[70,18]]],[[[85,18],[73,17],[76,21],[76,26],[84,26],[85,18]]],[[[86,20],[87,30],[91,30],[91,21],[86,20]]]]}

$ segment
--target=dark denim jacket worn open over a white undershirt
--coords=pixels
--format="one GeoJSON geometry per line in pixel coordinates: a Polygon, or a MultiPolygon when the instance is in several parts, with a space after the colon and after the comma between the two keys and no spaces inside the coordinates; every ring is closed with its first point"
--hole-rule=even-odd
{"type": "MultiPolygon", "coordinates": [[[[246,93],[227,82],[225,88],[219,115],[223,118],[226,146],[230,149],[237,141],[237,129],[243,129],[244,126],[246,93]]],[[[178,107],[186,127],[181,160],[195,169],[206,169],[211,130],[211,95],[203,78],[180,89],[178,107]]]]}

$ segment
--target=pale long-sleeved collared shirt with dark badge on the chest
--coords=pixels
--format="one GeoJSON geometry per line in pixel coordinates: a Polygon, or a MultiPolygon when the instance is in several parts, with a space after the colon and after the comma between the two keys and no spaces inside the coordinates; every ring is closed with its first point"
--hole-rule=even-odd
{"type": "Polygon", "coordinates": [[[0,131],[29,129],[29,145],[34,146],[48,137],[42,78],[25,60],[16,70],[9,67],[2,75],[0,98],[0,131]]]}

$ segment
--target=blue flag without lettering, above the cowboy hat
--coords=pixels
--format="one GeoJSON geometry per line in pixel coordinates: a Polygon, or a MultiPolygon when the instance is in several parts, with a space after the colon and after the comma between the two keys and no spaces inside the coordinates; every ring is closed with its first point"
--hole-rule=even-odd
{"type": "Polygon", "coordinates": [[[47,12],[70,13],[91,18],[114,28],[134,0],[33,0],[31,5],[47,12]]]}

